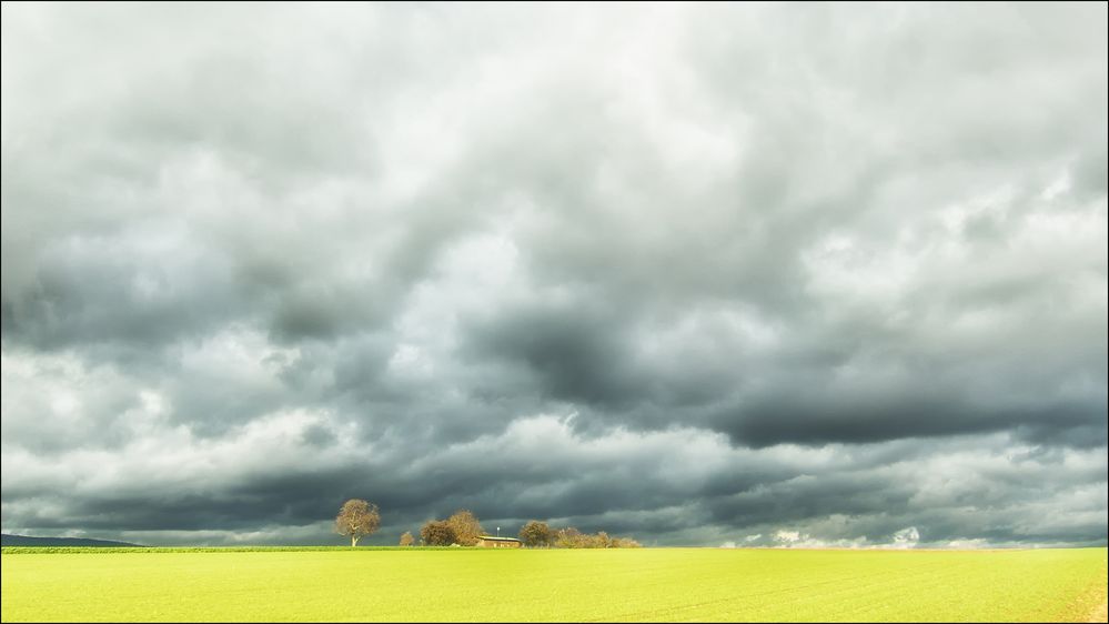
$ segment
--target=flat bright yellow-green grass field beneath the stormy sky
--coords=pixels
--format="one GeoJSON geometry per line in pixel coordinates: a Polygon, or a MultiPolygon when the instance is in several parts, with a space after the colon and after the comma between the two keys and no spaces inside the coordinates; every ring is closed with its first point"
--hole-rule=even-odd
{"type": "Polygon", "coordinates": [[[6,548],[0,563],[4,622],[1087,621],[1106,597],[1106,548],[6,548]]]}

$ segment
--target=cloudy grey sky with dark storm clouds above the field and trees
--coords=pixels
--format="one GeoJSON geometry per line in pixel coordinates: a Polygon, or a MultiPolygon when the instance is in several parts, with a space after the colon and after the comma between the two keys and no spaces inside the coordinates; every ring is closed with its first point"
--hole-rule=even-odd
{"type": "Polygon", "coordinates": [[[1105,3],[2,7],[6,533],[1107,542],[1105,3]]]}

